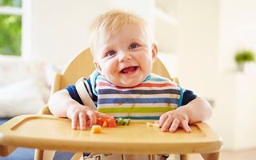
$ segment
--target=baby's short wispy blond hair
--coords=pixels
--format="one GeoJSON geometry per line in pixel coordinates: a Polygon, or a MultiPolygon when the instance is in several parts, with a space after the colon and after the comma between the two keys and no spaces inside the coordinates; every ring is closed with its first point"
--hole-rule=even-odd
{"type": "Polygon", "coordinates": [[[148,42],[151,42],[150,34],[146,30],[146,22],[142,18],[130,12],[110,10],[98,16],[90,26],[90,50],[92,54],[95,54],[94,47],[99,38],[105,38],[104,40],[107,41],[126,25],[138,27],[146,35],[148,42]]]}

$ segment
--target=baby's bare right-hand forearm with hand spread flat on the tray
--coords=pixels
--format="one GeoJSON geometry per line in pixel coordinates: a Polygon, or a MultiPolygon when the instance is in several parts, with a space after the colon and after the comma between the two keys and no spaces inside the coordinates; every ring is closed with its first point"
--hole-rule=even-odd
{"type": "Polygon", "coordinates": [[[178,127],[182,127],[186,132],[190,132],[190,126],[194,122],[203,122],[210,118],[212,109],[204,98],[195,98],[188,104],[178,107],[162,114],[159,119],[159,126],[162,131],[170,130],[174,132],[178,127]]]}

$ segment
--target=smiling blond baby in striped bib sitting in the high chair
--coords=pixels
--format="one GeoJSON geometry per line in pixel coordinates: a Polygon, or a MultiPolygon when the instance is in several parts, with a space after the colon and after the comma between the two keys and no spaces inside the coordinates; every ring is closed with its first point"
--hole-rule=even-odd
{"type": "MultiPolygon", "coordinates": [[[[86,130],[97,118],[156,119],[163,132],[206,121],[210,104],[167,78],[152,74],[158,46],[135,14],[113,10],[91,26],[90,50],[96,70],[84,87],[97,110],[84,106],[74,85],[50,97],[49,108],[58,117],[71,119],[73,129],[86,130]]],[[[141,158],[140,158],[141,159],[141,158]]],[[[143,159],[143,158],[142,158],[143,159]]]]}

